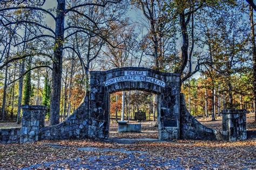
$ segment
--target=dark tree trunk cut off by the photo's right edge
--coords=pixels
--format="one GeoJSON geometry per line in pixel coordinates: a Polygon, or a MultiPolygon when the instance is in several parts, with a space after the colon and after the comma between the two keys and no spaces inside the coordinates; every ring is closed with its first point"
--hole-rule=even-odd
{"type": "MultiPolygon", "coordinates": [[[[254,89],[254,108],[256,108],[256,47],[255,47],[255,32],[253,22],[253,8],[250,6],[250,21],[251,21],[251,34],[252,34],[252,58],[253,58],[253,89],[254,89]]],[[[254,121],[256,121],[256,111],[254,109],[254,121]]]]}

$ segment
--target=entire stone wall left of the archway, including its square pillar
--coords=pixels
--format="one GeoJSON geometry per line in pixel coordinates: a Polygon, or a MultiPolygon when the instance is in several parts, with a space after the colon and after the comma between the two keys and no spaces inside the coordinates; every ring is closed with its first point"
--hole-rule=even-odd
{"type": "Polygon", "coordinates": [[[22,107],[22,128],[0,129],[0,143],[35,142],[38,140],[59,140],[87,138],[89,132],[89,95],[73,114],[55,126],[44,127],[44,106],[24,105],[22,107]]]}

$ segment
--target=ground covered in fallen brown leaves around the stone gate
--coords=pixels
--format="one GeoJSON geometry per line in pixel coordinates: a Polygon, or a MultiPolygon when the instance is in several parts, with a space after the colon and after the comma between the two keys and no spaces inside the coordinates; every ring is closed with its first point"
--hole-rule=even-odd
{"type": "MultiPolygon", "coordinates": [[[[200,121],[208,127],[221,128],[221,120],[200,121]]],[[[4,125],[11,127],[11,124],[4,125]]],[[[3,123],[0,126],[3,127],[3,123]]],[[[255,130],[250,114],[247,129],[255,130]]],[[[110,137],[116,140],[0,144],[0,168],[256,168],[256,139],[237,142],[153,140],[124,144],[117,142],[121,141],[119,138],[157,139],[157,127],[146,122],[143,133],[117,133],[117,125],[111,124],[110,131],[110,137]]]]}

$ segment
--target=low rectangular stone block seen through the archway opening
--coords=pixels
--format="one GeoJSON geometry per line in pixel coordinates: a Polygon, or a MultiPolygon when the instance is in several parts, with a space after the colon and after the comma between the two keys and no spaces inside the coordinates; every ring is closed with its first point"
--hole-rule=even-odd
{"type": "Polygon", "coordinates": [[[142,132],[142,124],[129,124],[126,121],[118,121],[118,132],[142,132]]]}

